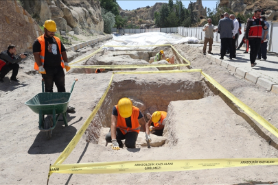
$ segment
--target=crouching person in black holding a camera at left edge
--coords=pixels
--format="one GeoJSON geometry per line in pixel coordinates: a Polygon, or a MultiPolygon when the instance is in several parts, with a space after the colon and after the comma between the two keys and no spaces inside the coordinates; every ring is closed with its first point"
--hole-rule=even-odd
{"type": "Polygon", "coordinates": [[[16,47],[14,45],[9,45],[8,50],[2,51],[0,53],[0,82],[4,82],[3,78],[12,70],[12,76],[10,80],[19,82],[16,79],[17,73],[19,73],[19,64],[23,58],[26,56],[21,53],[19,58],[15,58],[16,47]]]}

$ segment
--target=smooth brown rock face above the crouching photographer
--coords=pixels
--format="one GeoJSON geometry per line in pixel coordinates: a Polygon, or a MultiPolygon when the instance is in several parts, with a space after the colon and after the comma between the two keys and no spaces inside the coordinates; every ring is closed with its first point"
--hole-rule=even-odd
{"type": "Polygon", "coordinates": [[[11,44],[17,53],[32,51],[34,40],[43,34],[32,16],[16,0],[1,0],[0,11],[0,51],[11,44]]]}

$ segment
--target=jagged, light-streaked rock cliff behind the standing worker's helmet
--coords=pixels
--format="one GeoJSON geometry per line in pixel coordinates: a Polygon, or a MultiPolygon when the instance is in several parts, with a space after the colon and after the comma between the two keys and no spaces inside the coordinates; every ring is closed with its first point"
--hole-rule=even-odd
{"type": "Polygon", "coordinates": [[[58,30],[79,34],[103,33],[104,21],[98,0],[21,0],[23,8],[32,15],[39,25],[47,19],[56,22],[58,30]]]}

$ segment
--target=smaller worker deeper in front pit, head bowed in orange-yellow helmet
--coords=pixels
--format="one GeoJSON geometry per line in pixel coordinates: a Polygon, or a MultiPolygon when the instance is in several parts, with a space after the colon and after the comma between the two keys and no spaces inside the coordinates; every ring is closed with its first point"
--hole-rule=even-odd
{"type": "Polygon", "coordinates": [[[166,118],[167,112],[165,111],[156,111],[152,114],[152,117],[148,121],[150,125],[150,131],[152,134],[157,136],[162,136],[164,130],[163,120],[166,118]]]}

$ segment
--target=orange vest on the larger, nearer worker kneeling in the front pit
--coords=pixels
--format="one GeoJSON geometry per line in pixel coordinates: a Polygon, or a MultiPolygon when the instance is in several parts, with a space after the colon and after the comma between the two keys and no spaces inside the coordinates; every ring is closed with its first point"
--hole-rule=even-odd
{"type": "Polygon", "coordinates": [[[117,118],[117,125],[116,127],[121,130],[123,134],[126,134],[128,132],[137,132],[139,133],[140,131],[140,124],[138,121],[138,116],[139,116],[139,108],[132,106],[132,114],[131,114],[131,128],[126,125],[126,119],[121,117],[119,114],[118,106],[115,106],[118,112],[118,118],[117,118]]]}

